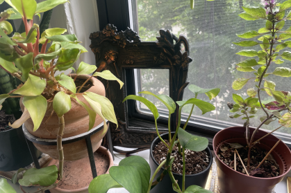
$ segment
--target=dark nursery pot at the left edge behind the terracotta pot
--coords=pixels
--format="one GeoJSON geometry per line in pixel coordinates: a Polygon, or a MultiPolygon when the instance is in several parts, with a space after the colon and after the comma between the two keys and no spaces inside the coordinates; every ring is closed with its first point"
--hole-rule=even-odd
{"type": "MultiPolygon", "coordinates": [[[[39,157],[41,152],[35,148],[35,154],[39,157]]],[[[17,170],[31,163],[33,163],[33,159],[26,144],[22,127],[0,131],[0,171],[17,170]]]]}

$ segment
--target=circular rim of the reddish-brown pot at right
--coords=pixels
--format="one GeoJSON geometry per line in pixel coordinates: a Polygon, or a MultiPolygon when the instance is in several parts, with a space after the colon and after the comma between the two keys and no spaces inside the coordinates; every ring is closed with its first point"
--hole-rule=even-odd
{"type": "MultiPolygon", "coordinates": [[[[235,127],[240,127],[240,126],[235,126],[235,127]]],[[[213,141],[215,141],[216,136],[217,136],[220,132],[227,131],[227,129],[231,129],[231,128],[233,128],[233,127],[228,127],[228,128],[226,128],[226,129],[222,129],[221,131],[218,131],[217,134],[215,134],[215,136],[214,136],[214,138],[213,138],[213,141]]],[[[245,127],[240,127],[240,128],[245,128],[245,127]]],[[[250,128],[252,128],[252,127],[250,127],[250,128]]],[[[254,129],[254,128],[252,128],[252,129],[254,129]]],[[[260,130],[260,131],[263,131],[263,130],[260,130]]],[[[263,132],[265,132],[265,134],[267,134],[266,131],[263,131],[263,132]]],[[[270,134],[270,135],[272,135],[274,138],[276,138],[276,139],[279,140],[279,138],[277,138],[277,137],[274,136],[273,134],[270,134]]],[[[228,138],[228,139],[229,139],[229,138],[228,138]]],[[[245,138],[243,138],[243,139],[245,139],[245,138]]],[[[283,143],[283,141],[281,140],[280,143],[283,143]]],[[[285,143],[283,143],[283,145],[285,145],[285,143]]],[[[286,145],[285,145],[285,146],[286,146],[286,145]]],[[[286,146],[286,147],[287,147],[287,146],[286,146]]],[[[287,147],[287,148],[288,148],[288,147],[287,147]]],[[[289,149],[289,148],[288,148],[288,149],[289,149]]],[[[217,150],[218,150],[218,148],[217,148],[217,150]]],[[[222,163],[224,166],[228,167],[228,165],[226,165],[224,162],[222,162],[222,161],[218,158],[217,153],[216,153],[216,151],[215,151],[215,146],[214,146],[214,145],[213,145],[213,151],[214,151],[214,153],[215,153],[215,157],[217,158],[217,160],[219,160],[219,162],[222,163]]],[[[289,149],[289,151],[290,151],[290,149],[289,149]]],[[[290,154],[291,154],[291,151],[290,151],[290,154]]],[[[286,171],[285,173],[282,173],[280,176],[276,176],[276,177],[272,177],[272,178],[258,178],[258,177],[254,177],[254,176],[248,176],[247,174],[242,174],[242,173],[240,173],[240,172],[238,172],[238,171],[235,171],[235,170],[232,169],[231,167],[228,167],[228,169],[231,169],[232,172],[235,172],[235,173],[240,174],[240,175],[242,175],[242,176],[247,176],[247,177],[249,177],[249,178],[253,178],[253,179],[260,179],[260,180],[273,180],[273,179],[276,179],[276,178],[282,178],[283,176],[285,176],[288,172],[290,172],[291,166],[289,167],[289,169],[287,169],[287,171],[286,171]]]]}

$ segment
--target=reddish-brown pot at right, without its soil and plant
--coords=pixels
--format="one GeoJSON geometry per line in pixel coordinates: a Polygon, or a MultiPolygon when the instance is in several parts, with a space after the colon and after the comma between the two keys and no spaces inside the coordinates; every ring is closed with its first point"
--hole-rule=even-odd
{"type": "MultiPolygon", "coordinates": [[[[251,136],[254,129],[250,128],[249,131],[251,136]]],[[[245,145],[246,139],[244,138],[244,132],[244,127],[229,127],[219,131],[213,139],[219,188],[221,192],[224,193],[271,193],[274,186],[282,181],[285,174],[287,174],[291,169],[291,151],[282,141],[278,143],[276,148],[272,151],[272,156],[274,156],[276,163],[280,167],[279,176],[274,178],[257,178],[236,172],[234,169],[231,169],[219,160],[217,157],[217,151],[222,143],[240,143],[245,145]]],[[[255,140],[265,136],[265,134],[267,134],[267,132],[259,130],[256,134],[255,140]]],[[[269,151],[278,140],[279,139],[275,136],[269,135],[263,140],[260,140],[258,146],[269,151]]]]}

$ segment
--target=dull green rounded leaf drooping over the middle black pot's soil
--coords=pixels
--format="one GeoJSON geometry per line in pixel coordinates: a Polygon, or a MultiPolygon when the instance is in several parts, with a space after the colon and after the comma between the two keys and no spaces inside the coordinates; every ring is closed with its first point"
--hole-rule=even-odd
{"type": "Polygon", "coordinates": [[[178,139],[183,148],[192,151],[203,151],[208,146],[207,138],[193,136],[182,128],[178,129],[178,139]]]}

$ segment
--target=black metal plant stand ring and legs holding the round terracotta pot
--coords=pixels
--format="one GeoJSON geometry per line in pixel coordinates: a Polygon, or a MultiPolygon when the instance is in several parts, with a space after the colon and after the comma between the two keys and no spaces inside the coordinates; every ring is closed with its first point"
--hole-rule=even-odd
{"type": "MultiPolygon", "coordinates": [[[[107,124],[108,122],[106,122],[107,124]]],[[[40,145],[57,145],[57,140],[56,139],[43,139],[43,138],[38,138],[35,137],[33,135],[31,135],[26,127],[24,125],[22,125],[22,129],[24,131],[24,136],[26,138],[26,143],[28,145],[29,151],[31,151],[31,157],[33,158],[33,163],[35,164],[35,168],[40,169],[40,163],[38,162],[38,158],[35,156],[35,149],[34,149],[34,145],[33,143],[38,143],[40,145]]],[[[92,143],[91,143],[91,136],[93,134],[96,134],[98,131],[100,131],[101,129],[103,129],[103,122],[101,122],[101,124],[97,125],[97,127],[92,128],[90,131],[85,132],[83,134],[77,135],[77,136],[72,136],[69,138],[63,138],[62,143],[64,144],[68,144],[68,143],[74,143],[78,140],[83,140],[85,139],[86,141],[86,145],[87,145],[87,149],[88,149],[88,155],[89,155],[89,160],[90,160],[90,166],[91,166],[91,171],[92,171],[92,176],[93,178],[97,177],[97,170],[96,170],[96,165],[95,165],[95,161],[94,161],[94,152],[92,149],[92,143]]],[[[108,128],[107,134],[106,134],[106,138],[109,142],[108,144],[108,149],[110,151],[110,153],[112,154],[113,158],[113,146],[111,142],[111,136],[110,136],[110,128],[108,128]]]]}

